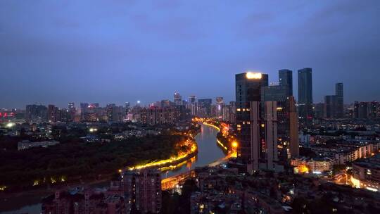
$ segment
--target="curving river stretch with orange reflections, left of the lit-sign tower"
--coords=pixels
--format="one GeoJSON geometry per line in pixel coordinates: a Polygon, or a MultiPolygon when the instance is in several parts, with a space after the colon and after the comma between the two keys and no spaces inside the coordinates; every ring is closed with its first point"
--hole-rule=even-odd
{"type": "Polygon", "coordinates": [[[207,125],[201,125],[201,133],[196,136],[198,154],[191,160],[186,160],[179,165],[163,169],[163,178],[179,175],[182,172],[192,170],[198,166],[205,166],[215,160],[224,158],[222,149],[217,146],[217,130],[207,125]]]}

